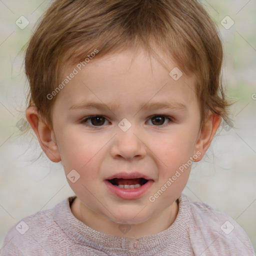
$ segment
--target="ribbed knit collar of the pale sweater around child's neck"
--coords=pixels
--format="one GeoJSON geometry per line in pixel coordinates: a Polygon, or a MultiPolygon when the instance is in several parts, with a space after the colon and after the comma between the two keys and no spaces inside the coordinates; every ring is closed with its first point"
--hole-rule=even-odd
{"type": "Polygon", "coordinates": [[[190,211],[186,210],[189,207],[189,202],[184,194],[178,198],[177,217],[167,229],[139,238],[111,236],[88,227],[71,212],[70,205],[75,197],[70,196],[56,205],[53,212],[54,221],[69,239],[105,251],[107,254],[114,252],[118,255],[125,255],[125,252],[134,251],[134,253],[150,255],[159,251],[166,244],[182,239],[182,236],[188,232],[190,211]]]}

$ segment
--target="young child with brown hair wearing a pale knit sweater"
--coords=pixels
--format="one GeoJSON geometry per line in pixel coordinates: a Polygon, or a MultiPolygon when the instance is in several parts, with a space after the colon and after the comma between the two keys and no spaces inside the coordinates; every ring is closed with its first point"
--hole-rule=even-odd
{"type": "Polygon", "coordinates": [[[0,255],[253,255],[181,193],[227,120],[221,63],[196,0],[54,1],[26,49],[26,117],[75,196],[17,222],[0,255]]]}

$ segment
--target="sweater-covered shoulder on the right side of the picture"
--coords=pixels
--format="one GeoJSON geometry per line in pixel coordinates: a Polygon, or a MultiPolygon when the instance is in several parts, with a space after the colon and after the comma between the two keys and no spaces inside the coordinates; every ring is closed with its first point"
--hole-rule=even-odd
{"type": "Polygon", "coordinates": [[[181,199],[189,211],[189,235],[195,252],[201,256],[254,255],[247,234],[233,218],[184,194],[181,199]]]}

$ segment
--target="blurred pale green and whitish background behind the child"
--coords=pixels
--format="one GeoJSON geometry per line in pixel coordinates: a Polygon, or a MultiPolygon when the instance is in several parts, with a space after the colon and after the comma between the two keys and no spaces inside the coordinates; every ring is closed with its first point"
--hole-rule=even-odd
{"type": "MultiPolygon", "coordinates": [[[[217,24],[226,94],[236,99],[207,155],[183,190],[234,218],[256,249],[256,1],[201,0],[217,24]]],[[[73,195],[60,163],[51,163],[25,123],[27,81],[22,47],[49,0],[0,0],[0,247],[21,218],[73,195]]]]}

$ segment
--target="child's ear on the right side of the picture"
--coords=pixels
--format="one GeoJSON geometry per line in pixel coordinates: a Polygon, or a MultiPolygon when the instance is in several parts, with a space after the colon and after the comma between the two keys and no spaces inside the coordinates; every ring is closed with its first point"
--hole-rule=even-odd
{"type": "Polygon", "coordinates": [[[208,117],[200,130],[198,140],[195,145],[195,152],[201,152],[200,156],[194,159],[195,162],[200,161],[208,149],[214,134],[220,124],[221,116],[219,114],[209,111],[208,117]]]}

